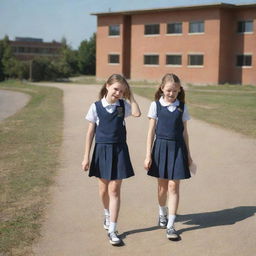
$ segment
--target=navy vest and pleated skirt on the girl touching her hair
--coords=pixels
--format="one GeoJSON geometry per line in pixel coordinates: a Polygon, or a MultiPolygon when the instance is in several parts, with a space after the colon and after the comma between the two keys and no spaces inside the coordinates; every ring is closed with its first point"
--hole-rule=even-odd
{"type": "Polygon", "coordinates": [[[113,113],[107,112],[101,101],[95,102],[99,124],[95,130],[95,147],[89,176],[106,180],[122,180],[134,176],[126,143],[124,101],[119,100],[113,113]]]}

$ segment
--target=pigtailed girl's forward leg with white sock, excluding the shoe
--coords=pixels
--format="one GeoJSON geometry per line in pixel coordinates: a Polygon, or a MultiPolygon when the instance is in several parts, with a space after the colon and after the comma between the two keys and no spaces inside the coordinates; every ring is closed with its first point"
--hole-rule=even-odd
{"type": "Polygon", "coordinates": [[[168,229],[173,227],[174,221],[175,221],[175,218],[176,218],[177,209],[178,209],[178,205],[179,205],[179,187],[180,187],[180,181],[179,180],[169,180],[169,182],[168,182],[169,217],[168,217],[168,224],[167,224],[168,229]]]}

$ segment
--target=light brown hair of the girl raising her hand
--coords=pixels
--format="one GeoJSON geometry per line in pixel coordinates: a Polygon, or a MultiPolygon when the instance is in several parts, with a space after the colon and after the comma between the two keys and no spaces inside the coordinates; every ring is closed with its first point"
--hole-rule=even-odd
{"type": "Polygon", "coordinates": [[[128,82],[126,81],[126,79],[119,74],[113,74],[111,75],[107,82],[104,83],[104,85],[102,86],[100,93],[99,93],[99,99],[101,100],[102,98],[104,98],[105,96],[107,96],[108,90],[106,88],[107,84],[108,85],[112,85],[114,83],[119,83],[122,84],[125,87],[125,91],[124,91],[124,98],[125,99],[130,99],[131,96],[131,88],[130,85],[128,84],[128,82]]]}

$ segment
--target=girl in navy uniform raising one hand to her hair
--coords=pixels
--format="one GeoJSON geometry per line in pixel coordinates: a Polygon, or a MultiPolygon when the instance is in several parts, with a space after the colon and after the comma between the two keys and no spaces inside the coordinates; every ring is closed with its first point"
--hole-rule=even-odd
{"type": "Polygon", "coordinates": [[[98,178],[105,215],[103,225],[108,230],[109,242],[118,245],[121,243],[117,236],[121,184],[123,179],[134,175],[126,144],[124,119],[130,115],[139,117],[141,113],[129,84],[121,75],[113,74],[109,77],[99,98],[99,101],[90,106],[86,115],[89,126],[82,168],[84,171],[89,170],[90,177],[98,178]],[[95,147],[90,163],[94,134],[95,147]]]}

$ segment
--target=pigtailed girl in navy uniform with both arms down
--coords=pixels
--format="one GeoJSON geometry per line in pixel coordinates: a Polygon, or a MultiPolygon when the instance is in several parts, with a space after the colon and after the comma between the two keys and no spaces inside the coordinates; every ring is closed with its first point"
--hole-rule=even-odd
{"type": "Polygon", "coordinates": [[[178,239],[174,221],[179,203],[181,179],[190,178],[187,120],[190,119],[185,93],[179,78],[166,74],[151,103],[144,167],[148,175],[158,178],[159,225],[167,228],[169,239],[178,239]],[[153,139],[155,137],[153,149],[153,139]],[[168,208],[166,205],[167,195],[168,208]]]}

